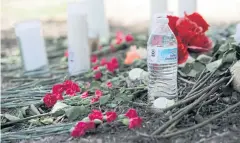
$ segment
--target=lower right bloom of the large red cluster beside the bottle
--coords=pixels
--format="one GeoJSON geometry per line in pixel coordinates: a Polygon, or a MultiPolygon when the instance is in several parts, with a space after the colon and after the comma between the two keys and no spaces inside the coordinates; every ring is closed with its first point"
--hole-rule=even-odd
{"type": "Polygon", "coordinates": [[[207,52],[212,48],[212,41],[206,35],[199,34],[189,42],[188,48],[195,52],[207,52]]]}

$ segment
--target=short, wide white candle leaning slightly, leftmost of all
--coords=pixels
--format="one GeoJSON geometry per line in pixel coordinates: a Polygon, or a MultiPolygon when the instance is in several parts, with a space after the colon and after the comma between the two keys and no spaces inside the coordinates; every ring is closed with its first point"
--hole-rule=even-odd
{"type": "Polygon", "coordinates": [[[16,24],[16,37],[20,46],[25,72],[48,69],[48,59],[39,20],[16,24]]]}

